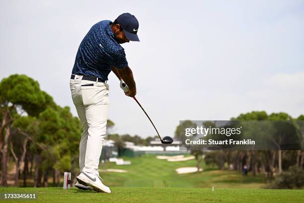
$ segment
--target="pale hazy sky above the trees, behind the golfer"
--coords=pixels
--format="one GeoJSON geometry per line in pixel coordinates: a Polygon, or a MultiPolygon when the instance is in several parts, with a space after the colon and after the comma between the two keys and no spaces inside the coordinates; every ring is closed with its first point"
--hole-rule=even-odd
{"type": "MultiPolygon", "coordinates": [[[[134,14],[141,42],[124,44],[137,99],[162,136],[179,120],[252,110],[304,114],[303,0],[11,0],[0,2],[0,79],[26,74],[71,106],[76,51],[96,22],[134,14]]],[[[113,132],[155,135],[111,73],[113,132]]]]}

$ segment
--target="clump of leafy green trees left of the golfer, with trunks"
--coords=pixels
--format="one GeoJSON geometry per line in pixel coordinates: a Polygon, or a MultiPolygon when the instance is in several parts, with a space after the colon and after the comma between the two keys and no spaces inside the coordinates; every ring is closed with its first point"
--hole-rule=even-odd
{"type": "Polygon", "coordinates": [[[26,173],[31,174],[28,168],[31,164],[35,170],[35,186],[40,185],[42,176],[47,182],[50,171],[62,173],[73,170],[77,165],[80,121],[72,115],[69,107],[56,105],[50,95],[40,90],[37,81],[17,74],[2,79],[0,118],[3,186],[7,181],[9,155],[16,162],[16,177],[20,161],[24,161],[24,167],[27,167],[24,168],[25,177],[26,173]]]}

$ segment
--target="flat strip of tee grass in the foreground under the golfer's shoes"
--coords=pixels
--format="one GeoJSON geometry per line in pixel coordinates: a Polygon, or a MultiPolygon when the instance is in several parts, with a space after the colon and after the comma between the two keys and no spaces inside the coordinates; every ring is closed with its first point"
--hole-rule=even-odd
{"type": "MultiPolygon", "coordinates": [[[[304,190],[244,190],[189,188],[112,188],[111,194],[76,188],[2,188],[1,193],[36,193],[39,203],[300,203],[304,190]]],[[[28,200],[22,202],[33,202],[28,200]]],[[[3,202],[3,201],[2,201],[3,202]]],[[[6,202],[6,201],[5,201],[6,202]]],[[[7,203],[20,200],[7,200],[7,203]]],[[[35,202],[35,201],[34,201],[35,202]]]]}

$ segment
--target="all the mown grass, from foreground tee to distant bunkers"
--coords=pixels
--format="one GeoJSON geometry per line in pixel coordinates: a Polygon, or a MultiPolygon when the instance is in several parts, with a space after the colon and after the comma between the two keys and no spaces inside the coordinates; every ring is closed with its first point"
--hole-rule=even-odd
{"type": "MultiPolygon", "coordinates": [[[[195,167],[195,160],[168,162],[155,156],[127,158],[131,165],[100,165],[101,169],[124,169],[127,173],[101,172],[111,194],[76,188],[1,188],[0,193],[36,193],[39,203],[300,203],[304,190],[265,190],[262,176],[242,176],[237,171],[208,168],[203,172],[177,174],[176,168],[195,167]],[[214,192],[212,187],[215,188],[214,192]]],[[[78,174],[72,174],[77,176],[78,174]]],[[[32,202],[33,200],[22,200],[32,202]]],[[[3,202],[0,200],[0,202],[3,202]]],[[[20,203],[20,200],[8,200],[20,203]]]]}

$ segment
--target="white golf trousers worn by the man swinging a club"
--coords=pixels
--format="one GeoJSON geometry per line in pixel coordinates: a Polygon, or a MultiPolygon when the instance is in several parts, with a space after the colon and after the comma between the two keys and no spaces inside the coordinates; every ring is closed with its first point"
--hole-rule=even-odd
{"type": "Polygon", "coordinates": [[[108,118],[109,86],[81,79],[82,76],[76,75],[70,80],[72,99],[83,130],[79,144],[79,169],[80,172],[99,174],[98,164],[108,118]]]}

